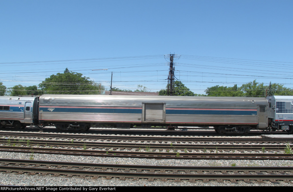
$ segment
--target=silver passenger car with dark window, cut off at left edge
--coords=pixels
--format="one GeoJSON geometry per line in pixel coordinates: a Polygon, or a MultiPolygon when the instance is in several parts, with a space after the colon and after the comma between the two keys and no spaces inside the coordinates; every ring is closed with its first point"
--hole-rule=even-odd
{"type": "Polygon", "coordinates": [[[15,127],[19,129],[37,124],[37,97],[0,97],[0,127],[15,127]]]}

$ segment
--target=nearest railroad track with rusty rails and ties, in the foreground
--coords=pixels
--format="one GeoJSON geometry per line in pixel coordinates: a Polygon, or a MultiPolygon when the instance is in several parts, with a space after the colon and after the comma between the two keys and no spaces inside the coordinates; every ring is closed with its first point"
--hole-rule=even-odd
{"type": "Polygon", "coordinates": [[[92,177],[98,179],[113,177],[120,180],[125,179],[148,179],[154,181],[160,179],[167,181],[172,179],[175,182],[188,180],[191,183],[203,181],[208,183],[216,180],[219,183],[229,180],[237,183],[243,180],[251,183],[271,182],[279,184],[280,181],[290,182],[293,180],[293,167],[194,167],[194,166],[147,166],[147,165],[117,165],[117,164],[96,164],[96,163],[74,163],[54,161],[34,161],[0,159],[0,171],[16,172],[16,174],[65,175],[66,177],[92,177]]]}

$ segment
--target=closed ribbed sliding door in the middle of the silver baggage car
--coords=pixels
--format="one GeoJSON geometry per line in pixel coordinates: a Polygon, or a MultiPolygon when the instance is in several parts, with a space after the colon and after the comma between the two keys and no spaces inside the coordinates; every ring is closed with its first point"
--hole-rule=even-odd
{"type": "Polygon", "coordinates": [[[142,103],[142,123],[166,122],[166,103],[142,103]]]}

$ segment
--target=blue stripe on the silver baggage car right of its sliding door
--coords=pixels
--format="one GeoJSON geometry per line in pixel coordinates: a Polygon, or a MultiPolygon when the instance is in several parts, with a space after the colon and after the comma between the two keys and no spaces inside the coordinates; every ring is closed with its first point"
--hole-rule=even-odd
{"type": "Polygon", "coordinates": [[[168,110],[166,114],[186,115],[256,115],[256,111],[249,110],[168,110]]]}

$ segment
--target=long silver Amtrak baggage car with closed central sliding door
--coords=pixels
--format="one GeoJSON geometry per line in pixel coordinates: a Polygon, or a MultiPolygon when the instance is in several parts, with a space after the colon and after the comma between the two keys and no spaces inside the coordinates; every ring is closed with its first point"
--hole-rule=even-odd
{"type": "Polygon", "coordinates": [[[133,125],[214,126],[218,133],[248,133],[268,127],[265,98],[42,95],[41,124],[59,130],[87,130],[91,122],[133,125]]]}

